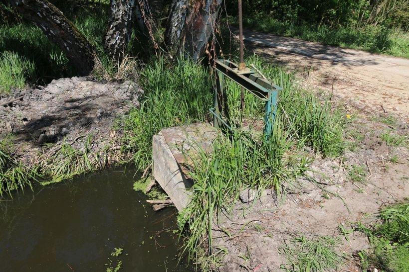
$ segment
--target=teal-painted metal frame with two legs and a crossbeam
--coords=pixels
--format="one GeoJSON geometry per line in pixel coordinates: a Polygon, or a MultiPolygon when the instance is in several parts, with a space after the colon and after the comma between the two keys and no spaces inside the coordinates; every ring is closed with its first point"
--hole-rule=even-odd
{"type": "Polygon", "coordinates": [[[214,90],[213,126],[220,127],[222,124],[231,129],[221,118],[221,113],[229,119],[226,97],[224,90],[224,77],[234,81],[250,93],[265,102],[264,106],[264,133],[266,139],[272,135],[275,116],[277,114],[277,103],[279,91],[282,88],[268,82],[257,73],[247,69],[244,73],[238,71],[238,66],[228,60],[215,60],[216,88],[214,90]]]}

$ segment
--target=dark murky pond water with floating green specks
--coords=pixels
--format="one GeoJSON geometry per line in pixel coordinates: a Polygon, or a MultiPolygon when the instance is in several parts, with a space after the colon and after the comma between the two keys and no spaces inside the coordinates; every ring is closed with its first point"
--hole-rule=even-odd
{"type": "Polygon", "coordinates": [[[193,271],[178,264],[175,208],[154,212],[123,167],[0,200],[0,271],[193,271]],[[115,248],[123,249],[112,256],[115,248]]]}

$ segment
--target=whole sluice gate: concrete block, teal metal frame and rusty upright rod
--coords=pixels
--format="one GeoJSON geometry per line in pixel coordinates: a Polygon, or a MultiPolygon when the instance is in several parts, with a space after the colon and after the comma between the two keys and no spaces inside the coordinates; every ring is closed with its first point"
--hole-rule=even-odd
{"type": "MultiPolygon", "coordinates": [[[[172,199],[176,208],[182,211],[191,201],[194,181],[190,179],[186,165],[191,156],[201,149],[211,153],[211,143],[221,128],[233,130],[224,92],[224,80],[230,79],[241,87],[241,110],[244,108],[244,90],[249,91],[265,102],[264,134],[269,141],[273,133],[273,124],[277,112],[279,91],[282,89],[270,83],[261,73],[248,69],[244,63],[243,26],[241,0],[238,0],[240,63],[228,60],[214,60],[216,87],[214,104],[209,108],[213,115],[213,127],[206,123],[190,124],[161,130],[153,137],[153,176],[172,199]]],[[[258,71],[257,71],[258,72],[258,71]]]]}

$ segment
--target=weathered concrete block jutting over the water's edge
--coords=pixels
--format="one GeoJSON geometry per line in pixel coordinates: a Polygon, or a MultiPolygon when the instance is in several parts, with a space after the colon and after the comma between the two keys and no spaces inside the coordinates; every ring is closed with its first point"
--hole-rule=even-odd
{"type": "Polygon", "coordinates": [[[153,175],[172,199],[178,211],[190,203],[193,186],[186,166],[191,164],[199,149],[211,152],[211,143],[217,137],[217,130],[207,123],[161,130],[152,140],[153,175]]]}

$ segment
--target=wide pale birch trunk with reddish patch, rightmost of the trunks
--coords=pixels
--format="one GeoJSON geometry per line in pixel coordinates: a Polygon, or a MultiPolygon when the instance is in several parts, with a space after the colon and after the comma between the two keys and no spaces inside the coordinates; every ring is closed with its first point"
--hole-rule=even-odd
{"type": "Polygon", "coordinates": [[[198,61],[216,26],[223,0],[174,0],[165,40],[198,61]],[[183,27],[183,29],[182,29],[183,27]]]}

